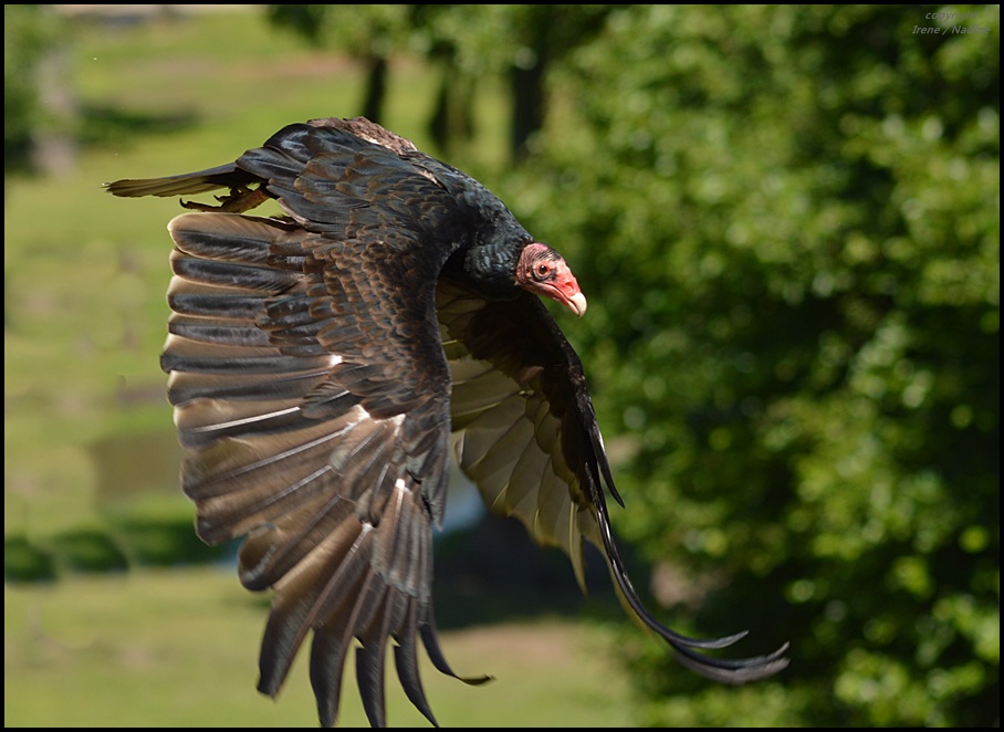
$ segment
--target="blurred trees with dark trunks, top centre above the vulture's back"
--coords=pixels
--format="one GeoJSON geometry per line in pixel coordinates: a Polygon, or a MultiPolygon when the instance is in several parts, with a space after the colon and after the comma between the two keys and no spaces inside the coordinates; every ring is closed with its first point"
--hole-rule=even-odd
{"type": "Polygon", "coordinates": [[[619,6],[269,6],[270,20],[310,43],[366,61],[363,116],[380,122],[387,60],[417,53],[439,69],[431,137],[449,151],[473,136],[474,94],[488,75],[511,93],[511,154],[521,159],[546,118],[548,71],[619,6]]]}

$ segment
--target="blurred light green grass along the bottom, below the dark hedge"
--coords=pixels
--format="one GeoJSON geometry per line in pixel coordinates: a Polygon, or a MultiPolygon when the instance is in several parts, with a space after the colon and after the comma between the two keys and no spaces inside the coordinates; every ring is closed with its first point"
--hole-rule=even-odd
{"type": "MultiPolygon", "coordinates": [[[[275,702],[254,691],[265,606],[218,568],[70,577],[4,586],[8,726],[316,726],[305,655],[275,702]],[[72,611],[70,611],[72,610],[72,611]]],[[[422,659],[426,694],[446,726],[624,726],[627,680],[595,628],[498,625],[442,634],[468,687],[422,659]]],[[[366,725],[355,663],[339,726],[366,725]]],[[[395,726],[428,726],[388,668],[395,726]]]]}

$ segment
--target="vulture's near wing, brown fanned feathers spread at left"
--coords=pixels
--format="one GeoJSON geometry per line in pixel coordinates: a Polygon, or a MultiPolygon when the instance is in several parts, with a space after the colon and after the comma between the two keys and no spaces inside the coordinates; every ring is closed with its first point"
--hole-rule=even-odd
{"type": "Polygon", "coordinates": [[[416,272],[400,255],[395,270],[380,264],[378,247],[351,251],[271,219],[190,213],[169,228],[175,278],[163,366],[188,448],[182,484],[199,535],[218,543],[249,533],[241,582],[275,589],[259,688],[279,691],[313,630],[311,678],[321,720],[333,724],[356,638],[359,690],[381,724],[394,638],[404,649],[401,682],[432,720],[416,639],[452,671],[431,604],[449,376],[441,352],[415,367],[440,348],[435,324],[421,317],[432,310],[431,280],[426,304],[415,286],[395,300],[387,290],[416,272]],[[349,257],[375,259],[353,269],[349,257]],[[431,348],[414,337],[416,310],[431,348]]]}

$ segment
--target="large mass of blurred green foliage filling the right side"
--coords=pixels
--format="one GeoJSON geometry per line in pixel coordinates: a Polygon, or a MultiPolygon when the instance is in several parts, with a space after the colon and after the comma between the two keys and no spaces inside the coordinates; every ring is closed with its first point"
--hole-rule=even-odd
{"type": "Polygon", "coordinates": [[[937,10],[624,7],[548,79],[506,199],[598,305],[616,525],[793,644],[741,690],[637,649],[646,723],[1000,722],[1000,14],[937,10]]]}

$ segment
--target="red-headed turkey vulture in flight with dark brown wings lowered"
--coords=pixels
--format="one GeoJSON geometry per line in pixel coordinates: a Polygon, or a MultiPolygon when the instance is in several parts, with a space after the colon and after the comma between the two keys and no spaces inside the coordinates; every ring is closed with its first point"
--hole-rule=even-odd
{"type": "Polygon", "coordinates": [[[161,366],[198,535],[247,534],[241,583],[275,592],[260,691],[279,692],[313,630],[311,682],[333,725],[355,638],[363,704],[383,725],[394,639],[401,686],[436,724],[417,641],[456,676],[431,599],[451,442],[489,508],[562,547],[581,584],[583,537],[600,547],[627,611],[688,668],[740,683],[787,665],[785,647],[705,655],[745,634],[688,638],[642,607],[610,531],[604,487],[623,502],[582,364],[537,297],[583,315],[585,296],[479,182],[357,117],[292,124],[233,163],[107,189],[229,191],[182,201],[200,212],[168,224],[161,366]],[[269,199],[283,216],[244,213],[269,199]]]}

